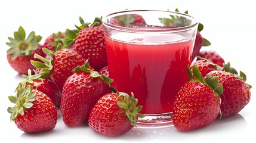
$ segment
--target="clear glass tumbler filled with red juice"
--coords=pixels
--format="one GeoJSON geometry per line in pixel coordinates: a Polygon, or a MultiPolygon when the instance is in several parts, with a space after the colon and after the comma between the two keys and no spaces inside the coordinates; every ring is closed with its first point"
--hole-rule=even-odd
{"type": "Polygon", "coordinates": [[[138,123],[172,122],[178,89],[187,82],[198,22],[181,13],[120,11],[103,17],[109,76],[119,92],[134,93],[138,123]]]}

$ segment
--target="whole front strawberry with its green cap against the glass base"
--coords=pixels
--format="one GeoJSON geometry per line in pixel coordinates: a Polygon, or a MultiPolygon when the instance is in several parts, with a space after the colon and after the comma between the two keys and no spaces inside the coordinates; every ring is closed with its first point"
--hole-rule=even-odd
{"type": "Polygon", "coordinates": [[[131,93],[106,94],[101,97],[91,110],[88,125],[94,132],[106,136],[122,135],[136,126],[138,113],[142,106],[136,107],[137,99],[131,93]]]}

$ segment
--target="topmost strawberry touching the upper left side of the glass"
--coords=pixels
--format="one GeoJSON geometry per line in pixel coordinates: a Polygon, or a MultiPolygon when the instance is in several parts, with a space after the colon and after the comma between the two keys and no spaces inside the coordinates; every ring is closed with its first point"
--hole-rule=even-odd
{"type": "Polygon", "coordinates": [[[76,26],[78,30],[66,29],[66,45],[73,45],[73,49],[88,59],[95,70],[107,66],[107,55],[104,41],[104,33],[101,18],[95,17],[92,24],[85,23],[80,17],[82,26],[76,26]]]}

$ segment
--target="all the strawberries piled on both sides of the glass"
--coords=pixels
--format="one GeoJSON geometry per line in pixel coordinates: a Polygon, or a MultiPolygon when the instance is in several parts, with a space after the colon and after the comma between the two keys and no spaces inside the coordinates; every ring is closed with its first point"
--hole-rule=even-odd
{"type": "MultiPolygon", "coordinates": [[[[178,11],[178,10],[176,10],[178,11]]],[[[129,23],[143,24],[140,15],[129,15],[129,23]]],[[[55,128],[57,107],[66,126],[81,123],[106,136],[121,135],[136,126],[141,106],[131,93],[116,91],[109,79],[101,18],[66,32],[53,33],[40,44],[41,36],[31,32],[26,38],[23,27],[8,38],[7,59],[11,67],[23,74],[9,107],[17,127],[35,133],[55,128]]],[[[166,24],[161,18],[159,20],[166,24]]],[[[175,19],[177,20],[177,19],[175,19]]],[[[168,20],[170,21],[170,20],[168,20]]],[[[122,17],[110,23],[125,25],[122,17]]],[[[175,128],[181,131],[202,128],[217,117],[238,113],[249,102],[251,85],[230,63],[215,51],[200,51],[210,45],[202,38],[199,24],[193,51],[194,63],[187,67],[189,81],[177,93],[173,111],[175,128]]]]}

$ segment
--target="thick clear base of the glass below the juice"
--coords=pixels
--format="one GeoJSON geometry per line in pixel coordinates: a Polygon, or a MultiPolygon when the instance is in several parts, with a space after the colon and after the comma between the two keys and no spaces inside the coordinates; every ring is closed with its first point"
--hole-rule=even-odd
{"type": "Polygon", "coordinates": [[[163,114],[145,114],[142,119],[138,119],[138,128],[161,128],[172,126],[172,112],[163,114]]]}

